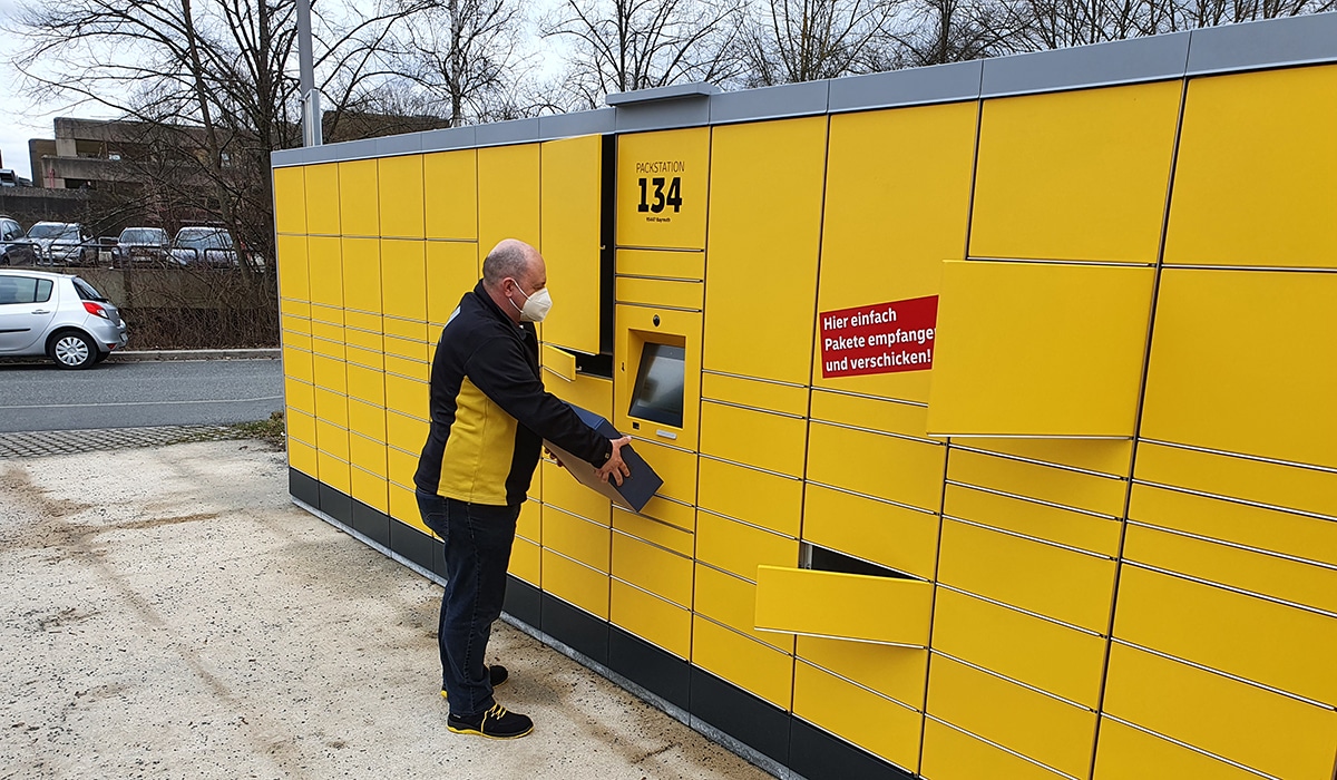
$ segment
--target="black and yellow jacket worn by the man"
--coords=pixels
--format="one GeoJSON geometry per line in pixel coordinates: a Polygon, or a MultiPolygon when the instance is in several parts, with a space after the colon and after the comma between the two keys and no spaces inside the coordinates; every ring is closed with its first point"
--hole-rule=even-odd
{"type": "Polygon", "coordinates": [[[432,361],[432,429],[418,490],[463,502],[519,504],[547,439],[594,466],[612,444],[543,389],[533,325],[516,325],[483,282],[460,298],[432,361]]]}

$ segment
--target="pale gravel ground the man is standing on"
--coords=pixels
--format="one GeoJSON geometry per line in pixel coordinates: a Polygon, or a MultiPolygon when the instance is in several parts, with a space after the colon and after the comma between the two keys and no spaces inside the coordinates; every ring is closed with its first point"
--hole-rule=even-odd
{"type": "Polygon", "coordinates": [[[533,735],[445,730],[440,589],[247,442],[0,462],[0,779],[761,779],[509,626],[533,735]]]}

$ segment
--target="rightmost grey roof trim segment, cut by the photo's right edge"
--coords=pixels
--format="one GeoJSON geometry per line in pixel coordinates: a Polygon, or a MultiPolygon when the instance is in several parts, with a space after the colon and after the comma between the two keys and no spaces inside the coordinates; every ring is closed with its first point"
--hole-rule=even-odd
{"type": "Polygon", "coordinates": [[[1337,12],[1193,31],[1190,76],[1337,62],[1337,12]]]}

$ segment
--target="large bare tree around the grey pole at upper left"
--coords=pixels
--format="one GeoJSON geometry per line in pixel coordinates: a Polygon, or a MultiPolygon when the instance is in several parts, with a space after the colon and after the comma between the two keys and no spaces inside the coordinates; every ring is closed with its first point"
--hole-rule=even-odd
{"type": "MultiPolygon", "coordinates": [[[[392,75],[386,39],[431,1],[314,16],[317,71],[336,107],[392,75]]],[[[245,257],[274,257],[269,154],[299,142],[291,0],[33,0],[17,19],[28,43],[13,64],[33,96],[151,127],[146,149],[158,169],[170,162],[159,191],[227,226],[245,257]]]]}

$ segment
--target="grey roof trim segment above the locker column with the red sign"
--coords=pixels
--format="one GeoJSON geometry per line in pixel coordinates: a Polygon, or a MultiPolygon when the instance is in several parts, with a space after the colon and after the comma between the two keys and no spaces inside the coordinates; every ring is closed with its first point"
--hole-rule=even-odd
{"type": "Polygon", "coordinates": [[[984,60],[975,60],[833,79],[829,107],[834,114],[975,100],[983,74],[984,60]]]}

